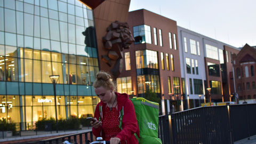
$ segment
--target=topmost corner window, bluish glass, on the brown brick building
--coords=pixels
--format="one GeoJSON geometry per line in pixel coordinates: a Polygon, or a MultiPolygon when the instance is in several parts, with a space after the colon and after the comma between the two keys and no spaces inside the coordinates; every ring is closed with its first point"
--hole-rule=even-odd
{"type": "Polygon", "coordinates": [[[134,44],[151,44],[151,27],[147,25],[133,27],[134,44]]]}

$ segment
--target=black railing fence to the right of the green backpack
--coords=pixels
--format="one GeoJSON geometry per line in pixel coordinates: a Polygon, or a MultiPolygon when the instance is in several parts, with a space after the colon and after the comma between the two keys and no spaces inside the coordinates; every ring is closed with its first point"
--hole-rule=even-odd
{"type": "Polygon", "coordinates": [[[234,143],[256,135],[256,104],[199,107],[159,116],[158,136],[169,143],[234,143]]]}

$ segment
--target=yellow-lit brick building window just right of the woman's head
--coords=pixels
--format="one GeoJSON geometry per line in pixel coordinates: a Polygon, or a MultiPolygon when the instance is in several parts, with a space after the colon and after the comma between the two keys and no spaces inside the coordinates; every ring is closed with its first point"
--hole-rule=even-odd
{"type": "Polygon", "coordinates": [[[116,79],[117,92],[132,94],[132,78],[131,77],[121,77],[116,79]]]}

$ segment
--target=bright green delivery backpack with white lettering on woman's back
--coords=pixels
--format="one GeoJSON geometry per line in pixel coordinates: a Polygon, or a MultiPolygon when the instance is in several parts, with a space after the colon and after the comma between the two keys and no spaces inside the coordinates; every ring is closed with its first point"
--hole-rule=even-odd
{"type": "MultiPolygon", "coordinates": [[[[145,98],[133,98],[131,99],[137,122],[140,129],[140,138],[134,133],[135,137],[138,139],[139,144],[147,143],[161,143],[161,139],[158,138],[158,113],[159,104],[156,102],[151,102],[145,98]]],[[[122,119],[123,119],[123,109],[121,110],[120,125],[122,129],[122,119]]]]}

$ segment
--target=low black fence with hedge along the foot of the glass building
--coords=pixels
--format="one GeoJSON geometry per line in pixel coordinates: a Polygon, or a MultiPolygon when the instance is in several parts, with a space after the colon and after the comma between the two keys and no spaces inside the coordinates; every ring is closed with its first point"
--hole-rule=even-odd
{"type": "Polygon", "coordinates": [[[58,121],[38,121],[23,123],[0,123],[0,139],[27,137],[33,135],[43,135],[61,133],[74,130],[91,129],[88,119],[67,119],[58,121]]]}

